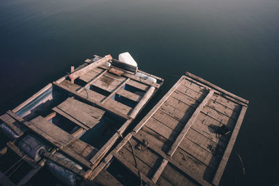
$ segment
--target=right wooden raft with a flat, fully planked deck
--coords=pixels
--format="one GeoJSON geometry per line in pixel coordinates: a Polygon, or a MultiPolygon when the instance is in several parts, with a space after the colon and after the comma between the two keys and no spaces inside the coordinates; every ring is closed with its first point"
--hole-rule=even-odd
{"type": "Polygon", "coordinates": [[[148,185],[218,185],[247,106],[245,99],[186,73],[91,179],[114,157],[148,185]]]}

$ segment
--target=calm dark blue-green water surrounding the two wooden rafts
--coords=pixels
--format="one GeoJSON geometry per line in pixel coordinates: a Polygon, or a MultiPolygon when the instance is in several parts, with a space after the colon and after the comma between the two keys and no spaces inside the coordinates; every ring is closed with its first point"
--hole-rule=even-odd
{"type": "Polygon", "coordinates": [[[126,51],[165,78],[154,102],[185,71],[248,99],[221,185],[279,183],[278,0],[1,0],[0,111],[86,57],[126,51]]]}

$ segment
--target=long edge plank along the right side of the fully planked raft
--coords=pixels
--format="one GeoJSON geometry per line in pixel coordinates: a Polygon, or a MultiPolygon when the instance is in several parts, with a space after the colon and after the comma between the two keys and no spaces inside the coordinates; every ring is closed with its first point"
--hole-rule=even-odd
{"type": "Polygon", "coordinates": [[[236,122],[236,126],[234,127],[234,131],[232,133],[232,136],[229,140],[229,144],[227,145],[227,149],[225,150],[225,153],[223,155],[223,158],[219,164],[218,170],[216,171],[216,174],[213,178],[213,184],[214,185],[219,185],[220,179],[222,178],[223,172],[225,170],[225,167],[227,165],[227,161],[229,160],[229,155],[232,152],[232,148],[234,147],[234,143],[236,141],[236,137],[239,134],[239,129],[241,127],[241,124],[243,122],[244,115],[246,113],[247,107],[242,106],[241,108],[241,113],[239,114],[239,118],[236,122]]]}

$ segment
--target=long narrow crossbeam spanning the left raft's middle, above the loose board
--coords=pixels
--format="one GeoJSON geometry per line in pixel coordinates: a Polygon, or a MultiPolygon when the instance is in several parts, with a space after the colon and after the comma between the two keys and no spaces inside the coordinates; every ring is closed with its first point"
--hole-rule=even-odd
{"type": "Polygon", "coordinates": [[[87,98],[85,95],[82,95],[78,92],[75,92],[73,90],[70,90],[70,88],[64,86],[64,85],[61,85],[59,83],[56,83],[55,81],[53,82],[53,85],[55,85],[56,87],[59,87],[61,88],[62,90],[66,90],[66,92],[70,92],[71,94],[79,97],[80,99],[83,99],[84,101],[88,101],[89,103],[93,103],[94,105],[100,107],[100,108],[103,108],[105,110],[108,110],[110,111],[111,113],[114,113],[116,115],[119,115],[120,117],[123,117],[125,119],[130,119],[130,116],[128,115],[125,115],[123,113],[121,113],[119,110],[117,110],[117,108],[113,108],[112,106],[108,106],[108,105],[104,105],[104,104],[101,104],[100,102],[94,100],[94,99],[91,99],[91,98],[87,98]]]}

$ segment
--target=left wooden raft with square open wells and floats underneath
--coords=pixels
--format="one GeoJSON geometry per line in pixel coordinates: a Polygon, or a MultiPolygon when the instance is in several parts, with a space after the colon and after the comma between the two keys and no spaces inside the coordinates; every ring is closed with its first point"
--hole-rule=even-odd
{"type": "Polygon", "coordinates": [[[0,127],[10,141],[0,150],[5,164],[0,185],[24,185],[45,165],[67,185],[90,181],[92,171],[162,84],[162,78],[110,55],[72,67],[67,76],[1,115],[0,127]]]}

